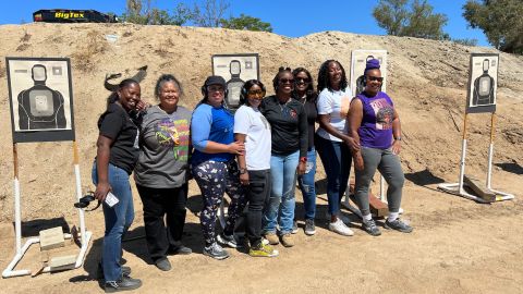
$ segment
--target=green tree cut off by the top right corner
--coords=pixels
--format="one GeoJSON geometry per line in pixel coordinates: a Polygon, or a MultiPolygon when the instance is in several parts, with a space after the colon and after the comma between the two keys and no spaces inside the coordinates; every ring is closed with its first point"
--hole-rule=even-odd
{"type": "Polygon", "coordinates": [[[494,47],[523,54],[522,0],[469,0],[463,10],[471,27],[483,29],[494,47]]]}

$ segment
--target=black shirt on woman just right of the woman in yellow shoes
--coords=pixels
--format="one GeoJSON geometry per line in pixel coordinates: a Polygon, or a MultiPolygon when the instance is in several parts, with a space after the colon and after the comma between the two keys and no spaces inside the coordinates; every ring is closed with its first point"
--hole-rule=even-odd
{"type": "Polygon", "coordinates": [[[307,114],[303,105],[292,98],[280,103],[272,95],[262,101],[259,109],[270,123],[272,154],[287,156],[300,150],[300,157],[306,157],[307,114]]]}

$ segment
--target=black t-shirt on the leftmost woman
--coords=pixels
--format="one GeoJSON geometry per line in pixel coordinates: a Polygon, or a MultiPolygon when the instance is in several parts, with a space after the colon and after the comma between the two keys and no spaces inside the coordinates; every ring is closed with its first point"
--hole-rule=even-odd
{"type": "Polygon", "coordinates": [[[131,174],[139,151],[136,123],[120,105],[110,103],[98,120],[98,130],[113,140],[109,162],[131,174]]]}

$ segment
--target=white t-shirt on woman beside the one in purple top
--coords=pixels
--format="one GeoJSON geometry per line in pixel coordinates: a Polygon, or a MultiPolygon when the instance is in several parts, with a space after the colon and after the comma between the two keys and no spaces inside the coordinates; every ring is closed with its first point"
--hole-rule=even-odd
{"type": "MultiPolygon", "coordinates": [[[[345,90],[335,90],[333,93],[325,88],[318,96],[318,114],[329,114],[330,125],[342,134],[349,134],[345,118],[346,114],[349,114],[349,106],[351,105],[352,98],[354,97],[352,97],[350,87],[346,87],[345,90]]],[[[341,139],[327,133],[327,131],[321,127],[318,127],[316,134],[326,139],[341,142],[341,139]]]]}

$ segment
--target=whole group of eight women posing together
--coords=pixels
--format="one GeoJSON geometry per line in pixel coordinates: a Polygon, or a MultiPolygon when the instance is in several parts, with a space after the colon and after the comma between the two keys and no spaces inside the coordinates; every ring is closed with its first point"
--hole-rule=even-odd
{"type": "Polygon", "coordinates": [[[229,254],[222,246],[245,245],[234,236],[245,206],[245,243],[251,256],[278,256],[272,246],[280,242],[294,246],[296,181],[304,200],[304,232],[314,235],[316,151],[327,174],[330,231],[354,234],[340,213],[354,158],[362,229],[380,234],[368,204],[368,187],[378,169],[389,184],[390,213],[385,228],[411,232],[398,217],[404,182],[398,157],[401,125],[392,100],[381,91],[379,66],[378,60],[367,61],[366,87],[356,97],[336,60],[321,64],[317,91],[306,69],[280,68],[272,79],[275,95],[265,97],[260,81],[247,81],[241,91],[242,106],[234,114],[224,107],[227,85],[221,76],[205,81],[203,99],[193,112],[178,105],[183,90],[172,75],[160,76],[155,88],[159,103],[150,107],[141,100],[137,82],[122,81],[98,121],[93,168],[95,197],[104,200],[112,193],[118,199],[117,204],[104,203],[100,269],[106,292],[142,284],[130,277],[129,267],[120,265],[122,236],[134,219],[129,183],[133,171],[144,207],[147,248],[163,271],[171,269],[168,255],[192,253],[181,241],[191,176],[203,197],[199,219],[206,256],[224,259],[229,254]],[[231,203],[226,226],[216,234],[224,193],[231,203]]]}

